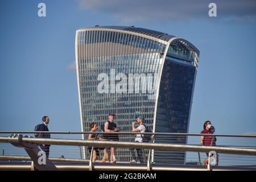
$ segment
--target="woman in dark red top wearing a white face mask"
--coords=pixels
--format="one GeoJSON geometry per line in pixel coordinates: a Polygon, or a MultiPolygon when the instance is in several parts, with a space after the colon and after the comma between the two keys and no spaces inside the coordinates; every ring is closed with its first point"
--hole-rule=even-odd
{"type": "MultiPolygon", "coordinates": [[[[210,127],[212,127],[212,124],[210,123],[210,121],[205,121],[204,122],[204,130],[201,131],[201,134],[213,134],[212,131],[210,131],[210,127]]],[[[212,144],[212,137],[211,136],[201,136],[201,146],[210,146],[212,144]]],[[[204,162],[203,162],[203,166],[207,165],[208,163],[208,153],[207,154],[207,158],[205,158],[204,162]]]]}

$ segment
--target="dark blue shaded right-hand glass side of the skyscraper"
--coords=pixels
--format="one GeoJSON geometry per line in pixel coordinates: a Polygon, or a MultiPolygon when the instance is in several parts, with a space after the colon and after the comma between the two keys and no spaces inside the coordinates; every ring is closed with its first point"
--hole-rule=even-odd
{"type": "MultiPolygon", "coordinates": [[[[187,133],[196,68],[182,65],[171,59],[164,62],[158,106],[156,110],[155,132],[187,133]]],[[[156,137],[155,143],[185,144],[185,137],[156,137]],[[171,142],[170,142],[171,141],[171,142]]],[[[154,151],[157,163],[184,164],[185,152],[154,151]],[[168,156],[163,160],[163,155],[168,156]]]]}

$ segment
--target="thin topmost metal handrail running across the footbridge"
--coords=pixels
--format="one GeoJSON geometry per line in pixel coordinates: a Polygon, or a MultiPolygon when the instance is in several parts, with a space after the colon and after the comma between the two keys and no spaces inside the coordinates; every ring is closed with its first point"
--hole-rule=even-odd
{"type": "MultiPolygon", "coordinates": [[[[48,134],[92,134],[92,133],[104,133],[104,134],[136,134],[134,132],[71,132],[71,131],[0,131],[0,134],[35,134],[35,133],[48,133],[48,134]]],[[[148,135],[178,135],[178,136],[215,136],[215,137],[249,137],[256,138],[256,135],[245,134],[195,134],[195,133],[140,133],[148,135]]]]}

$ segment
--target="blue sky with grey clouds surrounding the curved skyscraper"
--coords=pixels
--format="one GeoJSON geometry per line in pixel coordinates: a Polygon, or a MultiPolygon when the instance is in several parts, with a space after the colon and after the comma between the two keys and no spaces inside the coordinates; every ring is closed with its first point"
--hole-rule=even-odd
{"type": "Polygon", "coordinates": [[[210,1],[145,2],[0,1],[0,130],[33,130],[49,115],[51,131],[81,131],[75,31],[99,24],[166,32],[200,50],[189,133],[208,119],[218,134],[256,133],[255,2],[214,1],[214,18],[210,1]]]}

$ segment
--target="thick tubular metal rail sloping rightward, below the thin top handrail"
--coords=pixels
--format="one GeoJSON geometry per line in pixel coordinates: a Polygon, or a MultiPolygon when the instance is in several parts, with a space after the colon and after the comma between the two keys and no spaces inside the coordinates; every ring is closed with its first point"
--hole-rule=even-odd
{"type": "MultiPolygon", "coordinates": [[[[9,137],[0,137],[0,142],[9,142],[9,137]]],[[[153,150],[209,152],[216,151],[225,154],[256,155],[255,148],[218,147],[218,146],[197,146],[188,144],[167,144],[167,143],[136,143],[136,142],[111,142],[98,140],[79,139],[45,139],[45,138],[22,138],[22,142],[38,144],[56,144],[64,146],[92,146],[92,147],[119,147],[119,148],[143,148],[153,150]]]]}

